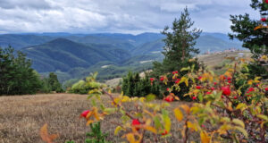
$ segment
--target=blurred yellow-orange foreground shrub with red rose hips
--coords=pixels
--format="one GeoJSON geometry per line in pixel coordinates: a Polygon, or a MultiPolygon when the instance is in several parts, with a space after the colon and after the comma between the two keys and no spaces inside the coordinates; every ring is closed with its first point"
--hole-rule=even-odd
{"type": "MultiPolygon", "coordinates": [[[[265,58],[267,59],[267,58],[265,58]]],[[[265,142],[268,126],[268,84],[255,77],[248,80],[247,62],[240,59],[221,76],[215,76],[213,71],[205,69],[199,71],[188,70],[178,84],[172,88],[180,88],[180,84],[193,84],[185,96],[191,97],[196,103],[179,105],[172,110],[178,122],[182,124],[178,142],[189,140],[201,142],[265,142]],[[191,139],[190,134],[198,133],[199,139],[191,139]]],[[[142,142],[145,133],[149,139],[157,142],[160,137],[172,138],[171,113],[166,109],[169,102],[175,97],[172,92],[165,97],[162,103],[155,103],[154,96],[147,97],[113,97],[102,90],[111,98],[113,107],[105,107],[100,95],[91,95],[90,100],[94,107],[88,110],[87,124],[105,120],[107,114],[121,114],[119,126],[114,130],[118,135],[123,132],[123,138],[129,142],[142,142]],[[96,97],[96,98],[95,98],[96,97]],[[101,104],[96,105],[99,99],[101,104]],[[127,104],[123,104],[127,103],[127,104]],[[126,106],[134,105],[138,110],[129,111],[126,106]]]]}

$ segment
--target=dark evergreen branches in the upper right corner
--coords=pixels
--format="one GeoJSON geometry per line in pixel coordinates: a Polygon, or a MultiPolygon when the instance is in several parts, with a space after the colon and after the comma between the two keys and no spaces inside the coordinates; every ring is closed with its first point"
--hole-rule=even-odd
{"type": "Polygon", "coordinates": [[[264,0],[251,0],[250,6],[262,15],[261,20],[251,20],[249,14],[230,15],[232,25],[230,29],[234,32],[229,34],[231,39],[238,38],[243,46],[248,48],[255,56],[268,55],[268,32],[265,29],[255,29],[257,26],[268,21],[268,4],[264,0]]]}

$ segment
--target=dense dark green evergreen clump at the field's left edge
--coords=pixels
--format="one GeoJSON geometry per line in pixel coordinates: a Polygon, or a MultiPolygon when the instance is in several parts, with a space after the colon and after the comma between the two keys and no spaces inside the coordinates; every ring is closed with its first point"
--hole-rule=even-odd
{"type": "Polygon", "coordinates": [[[35,94],[41,88],[37,71],[31,62],[13,47],[0,47],[0,95],[35,94]]]}

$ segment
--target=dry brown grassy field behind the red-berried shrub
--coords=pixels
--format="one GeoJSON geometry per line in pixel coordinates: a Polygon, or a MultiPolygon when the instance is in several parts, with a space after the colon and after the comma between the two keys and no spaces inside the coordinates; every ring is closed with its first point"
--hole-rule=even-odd
{"type": "MultiPolygon", "coordinates": [[[[109,98],[103,97],[107,105],[111,105],[109,98]]],[[[160,102],[160,101],[156,101],[160,102]]],[[[80,113],[90,107],[90,101],[85,95],[74,94],[47,94],[20,97],[0,97],[0,142],[1,143],[38,143],[42,142],[39,136],[40,128],[47,123],[50,133],[58,133],[60,137],[55,142],[65,142],[73,139],[84,142],[86,132],[90,130],[80,113]]],[[[182,104],[174,102],[171,108],[182,104]]],[[[129,106],[128,110],[134,110],[129,106]]],[[[172,113],[172,112],[171,112],[172,113]]],[[[116,125],[121,114],[109,115],[102,121],[102,130],[109,133],[108,140],[121,142],[121,135],[114,136],[116,125]]],[[[180,139],[178,131],[181,123],[172,119],[172,137],[168,142],[180,139]],[[177,132],[177,133],[176,133],[177,132]]],[[[145,139],[148,139],[147,136],[145,139]]],[[[193,136],[194,138],[194,136],[193,136]]],[[[159,138],[160,139],[160,138],[159,138]]],[[[164,140],[162,139],[163,142],[164,140]]],[[[146,140],[146,142],[148,142],[146,140]]]]}

